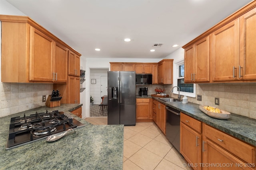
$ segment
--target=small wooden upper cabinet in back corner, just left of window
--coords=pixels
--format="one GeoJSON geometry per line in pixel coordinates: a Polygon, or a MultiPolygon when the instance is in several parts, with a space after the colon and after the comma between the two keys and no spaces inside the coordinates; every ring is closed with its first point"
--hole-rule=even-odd
{"type": "Polygon", "coordinates": [[[173,59],[164,59],[158,63],[158,84],[172,84],[173,59]]]}

